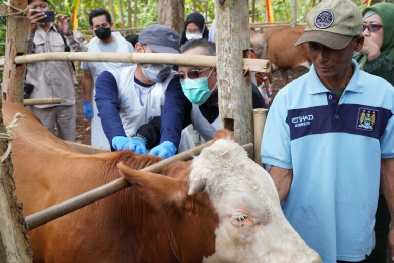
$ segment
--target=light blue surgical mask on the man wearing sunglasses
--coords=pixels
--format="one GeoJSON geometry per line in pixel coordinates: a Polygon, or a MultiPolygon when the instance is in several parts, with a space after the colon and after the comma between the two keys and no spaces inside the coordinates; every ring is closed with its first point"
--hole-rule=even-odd
{"type": "MultiPolygon", "coordinates": [[[[216,89],[216,86],[212,90],[208,88],[208,78],[212,72],[213,69],[207,77],[195,79],[185,78],[185,80],[181,82],[183,94],[185,94],[190,102],[201,105],[207,101],[209,96],[216,89]]],[[[216,83],[216,85],[218,84],[216,83]]]]}

